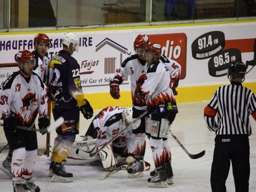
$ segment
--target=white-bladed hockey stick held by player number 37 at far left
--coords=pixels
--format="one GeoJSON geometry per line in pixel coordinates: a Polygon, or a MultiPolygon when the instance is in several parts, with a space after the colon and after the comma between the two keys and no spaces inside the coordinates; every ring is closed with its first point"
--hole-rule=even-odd
{"type": "Polygon", "coordinates": [[[58,128],[64,123],[64,118],[60,117],[56,121],[54,121],[50,126],[44,128],[44,129],[38,129],[33,126],[25,127],[25,126],[15,126],[18,129],[25,130],[25,131],[36,131],[36,132],[43,132],[43,133],[50,133],[52,130],[58,128]]]}

